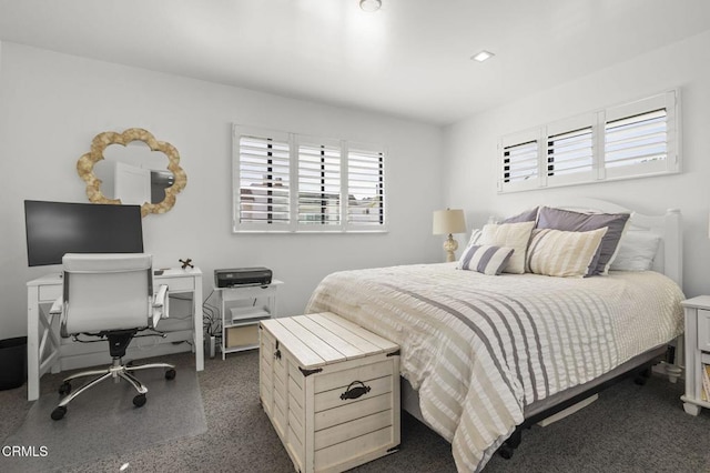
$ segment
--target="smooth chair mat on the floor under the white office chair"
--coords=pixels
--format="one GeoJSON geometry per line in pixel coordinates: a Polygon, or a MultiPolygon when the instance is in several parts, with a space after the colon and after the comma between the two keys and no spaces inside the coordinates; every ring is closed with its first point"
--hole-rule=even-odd
{"type": "MultiPolygon", "coordinates": [[[[88,461],[130,456],[133,451],[206,431],[193,366],[179,370],[170,381],[163,369],[139,371],[135,375],[149,390],[148,402],[140,409],[132,401],[138,393],[124,381],[103,381],[82,393],[68,405],[67,415],[60,421],[52,421],[50,414],[61,396],[57,392],[42,394],[22,425],[4,441],[4,445],[33,446],[31,456],[3,459],[1,470],[67,471],[88,461]]],[[[72,386],[77,389],[90,379],[78,379],[72,386]]],[[[61,383],[53,383],[58,384],[61,383]]]]}

